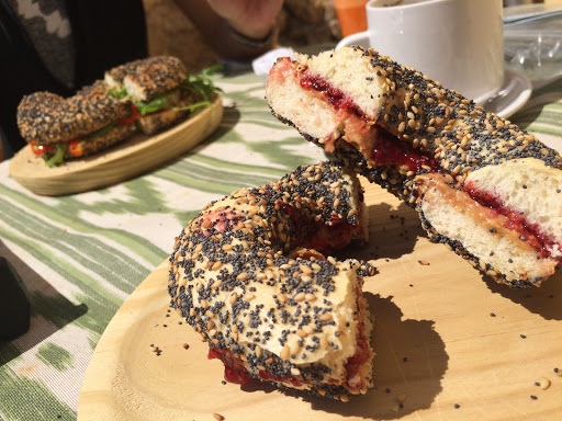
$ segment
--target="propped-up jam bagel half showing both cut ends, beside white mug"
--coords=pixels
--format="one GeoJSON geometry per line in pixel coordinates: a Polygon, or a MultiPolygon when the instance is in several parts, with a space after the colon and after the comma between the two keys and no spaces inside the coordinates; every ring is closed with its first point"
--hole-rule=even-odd
{"type": "Polygon", "coordinates": [[[562,258],[562,158],[532,134],[372,49],[272,67],[274,116],[414,207],[429,238],[513,287],[562,258]]]}

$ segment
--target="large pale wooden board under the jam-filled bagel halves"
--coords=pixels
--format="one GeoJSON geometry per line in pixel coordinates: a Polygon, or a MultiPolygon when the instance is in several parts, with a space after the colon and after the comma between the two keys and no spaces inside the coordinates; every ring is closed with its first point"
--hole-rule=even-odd
{"type": "Polygon", "coordinates": [[[164,262],[102,335],[78,421],[214,420],[214,413],[225,421],[559,419],[561,276],[532,289],[498,285],[429,242],[414,210],[363,184],[371,239],[342,257],[379,270],[364,284],[375,319],[374,390],[344,403],[259,382],[223,384],[222,363],[207,360],[206,343],[168,312],[164,262]]]}

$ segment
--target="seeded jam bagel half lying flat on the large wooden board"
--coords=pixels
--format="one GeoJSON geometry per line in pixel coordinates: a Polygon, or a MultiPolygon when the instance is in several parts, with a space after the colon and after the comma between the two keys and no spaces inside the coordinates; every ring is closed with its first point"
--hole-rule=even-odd
{"type": "Polygon", "coordinates": [[[327,257],[367,241],[355,172],[329,162],[243,189],[206,206],[176,239],[171,307],[225,364],[256,378],[347,401],[372,386],[373,269],[327,257]]]}

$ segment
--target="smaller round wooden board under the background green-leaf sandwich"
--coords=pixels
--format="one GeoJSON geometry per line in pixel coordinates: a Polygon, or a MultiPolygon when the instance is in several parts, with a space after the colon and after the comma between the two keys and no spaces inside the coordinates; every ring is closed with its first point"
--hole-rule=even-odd
{"type": "Polygon", "coordinates": [[[24,187],[46,196],[88,192],[116,184],[173,160],[207,137],[223,117],[222,98],[166,132],[135,134],[123,144],[83,159],[49,168],[25,147],[12,158],[10,175],[24,187]]]}

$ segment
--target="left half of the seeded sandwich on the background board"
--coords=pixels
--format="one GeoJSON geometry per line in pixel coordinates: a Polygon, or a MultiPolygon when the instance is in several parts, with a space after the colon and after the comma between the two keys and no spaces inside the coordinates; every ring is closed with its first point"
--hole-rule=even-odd
{"type": "Polygon", "coordinates": [[[133,104],[109,95],[101,81],[67,99],[46,91],[25,95],[16,120],[22,137],[48,167],[88,157],[136,132],[133,104]]]}

